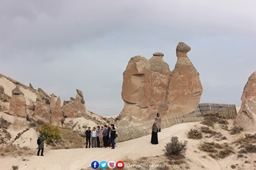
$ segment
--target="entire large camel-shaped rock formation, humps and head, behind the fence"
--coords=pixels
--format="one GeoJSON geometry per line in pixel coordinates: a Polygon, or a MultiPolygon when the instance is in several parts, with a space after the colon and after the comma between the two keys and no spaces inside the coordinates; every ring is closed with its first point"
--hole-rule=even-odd
{"type": "Polygon", "coordinates": [[[184,42],[179,42],[173,71],[163,61],[163,53],[154,53],[151,59],[132,57],[123,75],[124,108],[120,118],[152,119],[157,112],[161,115],[193,112],[202,95],[202,84],[188,59],[190,50],[184,42]]]}

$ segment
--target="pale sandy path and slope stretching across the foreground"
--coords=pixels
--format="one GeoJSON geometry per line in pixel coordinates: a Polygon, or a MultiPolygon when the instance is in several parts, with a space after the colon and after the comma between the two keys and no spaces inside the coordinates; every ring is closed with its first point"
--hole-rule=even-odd
{"type": "MultiPolygon", "coordinates": [[[[49,150],[45,149],[44,157],[36,156],[37,150],[35,149],[35,156],[31,157],[18,157],[18,158],[1,158],[0,169],[11,169],[12,166],[18,166],[18,169],[74,169],[80,170],[90,167],[90,163],[93,160],[102,161],[110,160],[126,160],[136,159],[141,157],[163,155],[163,149],[166,143],[170,141],[171,136],[178,136],[180,140],[188,141],[188,149],[185,155],[185,161],[189,164],[190,169],[232,169],[231,165],[242,165],[244,160],[238,159],[237,154],[232,154],[227,158],[221,160],[215,160],[208,156],[206,152],[199,151],[198,145],[200,141],[187,138],[188,130],[193,127],[202,126],[199,122],[184,123],[179,125],[174,125],[163,129],[161,133],[158,133],[159,144],[150,144],[151,136],[143,136],[141,138],[136,138],[129,141],[124,141],[118,143],[115,149],[109,148],[90,148],[90,149],[59,149],[59,150],[49,150]],[[205,156],[205,158],[202,158],[205,156]],[[24,160],[24,161],[23,161],[24,160]]],[[[227,135],[227,134],[224,134],[227,135]]],[[[236,137],[228,138],[227,142],[233,141],[236,137]]],[[[208,142],[213,141],[213,138],[204,138],[208,142]]],[[[202,141],[201,141],[202,142],[202,141]]],[[[253,169],[256,167],[254,159],[255,154],[246,155],[247,160],[250,163],[246,166],[241,167],[241,169],[253,169]]]]}

